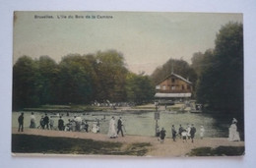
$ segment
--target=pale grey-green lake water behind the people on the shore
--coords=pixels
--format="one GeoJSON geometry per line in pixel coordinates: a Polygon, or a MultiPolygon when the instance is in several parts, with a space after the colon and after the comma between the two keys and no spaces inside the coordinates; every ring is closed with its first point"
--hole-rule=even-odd
{"type": "MultiPolygon", "coordinates": [[[[18,117],[21,113],[13,112],[12,127],[18,128],[18,117]]],[[[50,117],[52,113],[47,113],[50,117]]],[[[100,120],[100,133],[107,134],[109,120],[115,116],[116,123],[119,117],[122,117],[127,135],[155,136],[156,120],[155,112],[86,112],[86,113],[66,113],[63,114],[64,124],[67,124],[68,119],[73,119],[74,116],[80,116],[82,119],[89,120],[89,125],[93,125],[93,120],[100,120]],[[105,120],[102,120],[105,116],[105,120]]],[[[39,126],[39,120],[44,113],[34,112],[36,127],[39,126]]],[[[29,128],[31,112],[24,114],[24,127],[29,128]]],[[[54,127],[57,127],[58,117],[52,118],[54,127]]],[[[216,120],[209,114],[196,113],[170,113],[167,111],[160,112],[160,120],[158,121],[160,128],[166,130],[166,137],[171,137],[171,125],[175,125],[178,130],[181,124],[186,128],[187,124],[194,124],[197,129],[196,137],[199,137],[200,126],[205,128],[205,137],[209,138],[227,138],[228,127],[230,121],[216,120]]]]}

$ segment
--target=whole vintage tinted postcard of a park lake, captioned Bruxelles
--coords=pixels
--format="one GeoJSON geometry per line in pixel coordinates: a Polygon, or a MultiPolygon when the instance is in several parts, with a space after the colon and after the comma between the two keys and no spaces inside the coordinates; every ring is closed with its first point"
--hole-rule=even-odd
{"type": "Polygon", "coordinates": [[[14,12],[14,155],[242,156],[243,15],[14,12]]]}

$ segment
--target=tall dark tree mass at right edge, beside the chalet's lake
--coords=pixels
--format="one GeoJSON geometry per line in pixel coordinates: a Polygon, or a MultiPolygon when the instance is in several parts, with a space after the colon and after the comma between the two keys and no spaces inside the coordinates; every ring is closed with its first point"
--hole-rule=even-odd
{"type": "MultiPolygon", "coordinates": [[[[205,54],[205,60],[207,55],[205,54]]],[[[242,117],[243,114],[243,28],[228,23],[216,37],[211,63],[204,62],[197,100],[210,109],[242,117]]]]}

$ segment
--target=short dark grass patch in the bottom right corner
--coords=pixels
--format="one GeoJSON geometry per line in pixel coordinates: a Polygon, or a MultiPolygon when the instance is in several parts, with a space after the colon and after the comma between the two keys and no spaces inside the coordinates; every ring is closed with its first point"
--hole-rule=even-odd
{"type": "Polygon", "coordinates": [[[188,156],[240,156],[244,154],[244,146],[219,146],[194,148],[188,156]]]}

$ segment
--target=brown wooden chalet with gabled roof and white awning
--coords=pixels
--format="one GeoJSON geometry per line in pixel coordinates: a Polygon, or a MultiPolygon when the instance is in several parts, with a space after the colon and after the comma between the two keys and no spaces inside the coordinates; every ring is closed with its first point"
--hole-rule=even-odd
{"type": "Polygon", "coordinates": [[[155,98],[184,100],[192,95],[192,83],[183,77],[171,73],[163,81],[156,85],[155,98]]]}

